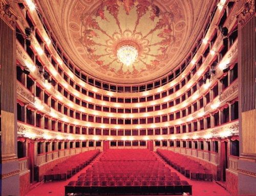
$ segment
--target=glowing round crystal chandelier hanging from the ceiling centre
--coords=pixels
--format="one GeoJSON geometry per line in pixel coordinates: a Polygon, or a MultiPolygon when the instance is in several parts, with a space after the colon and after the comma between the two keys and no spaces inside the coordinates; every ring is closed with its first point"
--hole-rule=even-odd
{"type": "Polygon", "coordinates": [[[133,46],[125,45],[117,50],[117,57],[123,64],[130,66],[138,57],[138,50],[133,46]]]}

